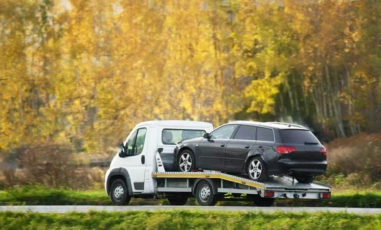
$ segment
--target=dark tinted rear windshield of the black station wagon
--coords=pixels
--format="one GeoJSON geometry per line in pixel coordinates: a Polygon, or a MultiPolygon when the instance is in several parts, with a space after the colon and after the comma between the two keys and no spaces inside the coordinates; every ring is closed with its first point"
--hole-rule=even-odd
{"type": "Polygon", "coordinates": [[[283,129],[280,130],[280,138],[282,140],[282,143],[286,144],[319,143],[316,136],[308,130],[283,129]]]}

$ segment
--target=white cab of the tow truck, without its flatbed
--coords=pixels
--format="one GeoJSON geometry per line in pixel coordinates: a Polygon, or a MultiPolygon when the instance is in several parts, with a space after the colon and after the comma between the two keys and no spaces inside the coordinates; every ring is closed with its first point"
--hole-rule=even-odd
{"type": "Polygon", "coordinates": [[[213,125],[197,121],[146,121],[139,123],[123,142],[127,154],[120,151],[111,160],[105,175],[105,190],[110,195],[110,187],[116,179],[126,183],[128,191],[118,194],[129,196],[155,194],[155,181],[151,173],[156,171],[155,154],[160,148],[161,159],[166,170],[173,170],[173,151],[176,143],[202,136],[213,130],[213,125]]]}

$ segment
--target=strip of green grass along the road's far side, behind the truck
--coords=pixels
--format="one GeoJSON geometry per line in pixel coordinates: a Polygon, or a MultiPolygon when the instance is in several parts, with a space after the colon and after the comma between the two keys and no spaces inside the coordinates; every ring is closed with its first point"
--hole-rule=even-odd
{"type": "MultiPolygon", "coordinates": [[[[165,205],[168,202],[167,200],[132,199],[130,204],[165,205]]],[[[111,202],[103,190],[76,191],[36,186],[16,187],[0,191],[0,205],[111,205],[111,202]]],[[[194,198],[190,198],[188,205],[197,205],[197,203],[194,198]]],[[[217,205],[252,205],[252,203],[222,201],[218,202],[217,205]]],[[[381,191],[332,192],[332,199],[330,200],[277,199],[276,205],[381,208],[381,191]]]]}

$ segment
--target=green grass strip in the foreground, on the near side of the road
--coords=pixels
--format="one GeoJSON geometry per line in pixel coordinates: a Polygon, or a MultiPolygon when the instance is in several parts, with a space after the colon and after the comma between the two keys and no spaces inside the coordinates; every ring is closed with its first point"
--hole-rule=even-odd
{"type": "Polygon", "coordinates": [[[161,211],[0,213],[2,229],[381,229],[381,215],[161,211]]]}

